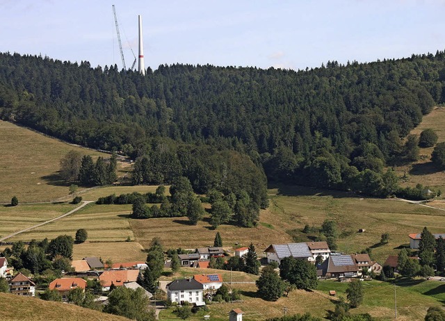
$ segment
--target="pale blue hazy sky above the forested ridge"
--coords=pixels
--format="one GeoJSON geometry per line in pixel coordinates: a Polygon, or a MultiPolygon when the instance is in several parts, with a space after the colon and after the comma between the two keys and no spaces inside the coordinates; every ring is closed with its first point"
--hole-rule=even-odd
{"type": "Polygon", "coordinates": [[[188,63],[304,69],[445,49],[445,0],[0,0],[0,51],[122,67],[188,63]]]}

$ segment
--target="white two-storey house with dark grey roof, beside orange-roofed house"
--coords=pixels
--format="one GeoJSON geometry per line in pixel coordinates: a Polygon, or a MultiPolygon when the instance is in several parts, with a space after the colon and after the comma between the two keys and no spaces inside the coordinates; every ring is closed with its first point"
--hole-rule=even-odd
{"type": "Polygon", "coordinates": [[[204,286],[195,279],[179,279],[167,284],[167,296],[172,302],[189,302],[197,306],[204,305],[202,290],[204,286]]]}

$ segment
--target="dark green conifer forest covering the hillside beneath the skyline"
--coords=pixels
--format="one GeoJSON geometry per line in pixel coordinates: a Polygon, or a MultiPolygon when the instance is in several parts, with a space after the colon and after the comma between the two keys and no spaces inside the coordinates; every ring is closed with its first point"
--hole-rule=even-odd
{"type": "Polygon", "coordinates": [[[0,53],[1,119],[147,155],[137,183],[184,175],[200,192],[223,189],[227,177],[265,182],[262,165],[275,181],[389,194],[385,165],[412,160],[416,141],[405,136],[444,101],[443,51],[298,72],[161,65],[146,76],[0,53]]]}

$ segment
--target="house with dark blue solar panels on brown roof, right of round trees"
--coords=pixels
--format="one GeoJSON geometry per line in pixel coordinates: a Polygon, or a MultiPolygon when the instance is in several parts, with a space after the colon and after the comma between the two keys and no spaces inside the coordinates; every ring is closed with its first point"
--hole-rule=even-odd
{"type": "Polygon", "coordinates": [[[331,255],[319,268],[321,276],[327,278],[347,279],[359,276],[359,267],[351,255],[331,255]]]}

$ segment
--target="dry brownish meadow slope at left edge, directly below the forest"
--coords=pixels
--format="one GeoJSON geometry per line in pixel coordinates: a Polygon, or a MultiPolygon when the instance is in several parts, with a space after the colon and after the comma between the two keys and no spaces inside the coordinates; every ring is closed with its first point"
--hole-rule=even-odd
{"type": "Polygon", "coordinates": [[[14,195],[20,202],[66,197],[67,184],[60,181],[57,172],[60,159],[72,149],[93,157],[109,157],[1,120],[0,137],[0,202],[3,203],[9,203],[14,195]]]}

